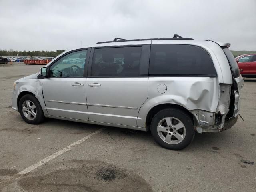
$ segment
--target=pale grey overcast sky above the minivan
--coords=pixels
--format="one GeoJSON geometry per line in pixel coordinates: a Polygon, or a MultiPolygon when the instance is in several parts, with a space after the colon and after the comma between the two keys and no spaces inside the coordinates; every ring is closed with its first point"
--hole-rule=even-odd
{"type": "Polygon", "coordinates": [[[0,49],[60,50],[171,38],[256,50],[256,0],[0,0],[0,49]]]}

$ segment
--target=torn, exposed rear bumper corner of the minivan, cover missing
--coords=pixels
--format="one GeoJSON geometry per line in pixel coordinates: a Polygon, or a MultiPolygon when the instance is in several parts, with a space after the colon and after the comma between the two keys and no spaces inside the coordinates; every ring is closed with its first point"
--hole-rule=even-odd
{"type": "Polygon", "coordinates": [[[196,132],[221,132],[236,124],[244,81],[242,76],[234,80],[234,84],[220,84],[219,103],[216,112],[190,110],[193,114],[196,132]]]}

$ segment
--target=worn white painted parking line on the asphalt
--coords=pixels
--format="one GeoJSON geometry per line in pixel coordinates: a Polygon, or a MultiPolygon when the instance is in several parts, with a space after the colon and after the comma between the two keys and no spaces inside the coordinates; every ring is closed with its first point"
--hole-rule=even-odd
{"type": "MultiPolygon", "coordinates": [[[[63,149],[57,151],[56,153],[54,153],[54,154],[52,154],[52,155],[50,155],[50,156],[48,156],[48,157],[46,157],[46,158],[40,160],[39,162],[35,163],[34,165],[29,166],[28,168],[26,168],[26,169],[24,169],[24,170],[18,172],[18,174],[14,175],[14,176],[12,176],[12,177],[10,177],[10,178],[7,178],[6,180],[10,180],[11,178],[14,178],[15,176],[18,176],[19,174],[26,174],[26,173],[29,173],[30,171],[32,171],[32,170],[38,168],[39,166],[45,164],[46,162],[48,162],[48,161],[50,161],[50,160],[52,160],[52,159],[58,157],[58,156],[61,155],[62,153],[67,152],[68,150],[71,149],[71,147],[73,147],[73,146],[75,146],[75,145],[78,145],[78,144],[81,144],[82,142],[84,142],[85,140],[91,138],[91,136],[93,136],[93,135],[95,135],[95,134],[99,134],[99,133],[102,132],[104,129],[105,129],[105,128],[98,129],[97,131],[95,131],[95,132],[89,134],[88,136],[85,136],[84,138],[82,138],[82,139],[80,139],[80,140],[78,140],[78,141],[76,141],[76,142],[70,144],[69,146],[67,146],[67,147],[65,147],[65,148],[63,148],[63,149]]],[[[6,181],[6,180],[4,180],[4,181],[6,181]]],[[[4,182],[4,181],[2,181],[2,182],[4,182]]],[[[0,182],[0,183],[2,183],[2,182],[0,182]]]]}

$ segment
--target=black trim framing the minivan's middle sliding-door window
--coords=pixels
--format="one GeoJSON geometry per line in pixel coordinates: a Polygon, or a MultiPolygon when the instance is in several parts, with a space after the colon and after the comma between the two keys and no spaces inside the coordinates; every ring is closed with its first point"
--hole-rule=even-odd
{"type": "Polygon", "coordinates": [[[149,57],[150,57],[150,45],[151,44],[139,44],[139,45],[120,45],[120,46],[99,46],[99,47],[92,47],[90,52],[90,59],[88,64],[88,73],[87,78],[134,78],[134,77],[148,77],[148,68],[149,68],[149,57]],[[92,76],[92,58],[95,52],[95,49],[102,49],[102,48],[123,48],[123,47],[141,47],[141,54],[140,54],[140,75],[136,76],[92,76]]]}

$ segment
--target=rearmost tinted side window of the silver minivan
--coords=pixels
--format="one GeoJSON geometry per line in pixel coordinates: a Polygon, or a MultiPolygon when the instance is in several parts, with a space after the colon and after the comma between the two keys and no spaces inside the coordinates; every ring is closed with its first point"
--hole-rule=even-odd
{"type": "Polygon", "coordinates": [[[209,54],[198,46],[153,44],[149,75],[216,76],[216,70],[209,54]]]}

